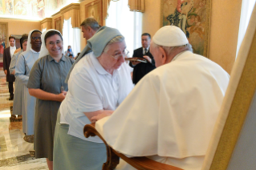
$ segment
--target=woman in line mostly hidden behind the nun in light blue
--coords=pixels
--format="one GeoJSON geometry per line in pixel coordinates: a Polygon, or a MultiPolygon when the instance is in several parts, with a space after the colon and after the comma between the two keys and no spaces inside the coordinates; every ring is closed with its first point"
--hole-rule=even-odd
{"type": "MultiPolygon", "coordinates": [[[[15,67],[16,67],[16,63],[18,60],[18,56],[26,51],[26,45],[27,45],[27,38],[28,38],[28,34],[22,34],[22,38],[20,38],[20,45],[21,45],[21,50],[18,51],[17,53],[15,53],[12,57],[11,57],[11,61],[10,61],[10,74],[11,75],[15,75],[15,67]]],[[[19,81],[20,79],[16,78],[15,81],[15,87],[14,87],[14,108],[13,108],[13,115],[18,115],[18,119],[21,119],[22,116],[22,112],[24,111],[24,107],[22,104],[22,97],[23,97],[23,84],[22,82],[19,81]]]]}

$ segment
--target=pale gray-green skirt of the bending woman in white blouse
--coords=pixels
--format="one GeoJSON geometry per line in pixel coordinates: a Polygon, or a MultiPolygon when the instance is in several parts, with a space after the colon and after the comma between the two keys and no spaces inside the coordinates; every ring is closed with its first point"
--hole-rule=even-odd
{"type": "Polygon", "coordinates": [[[54,170],[101,170],[107,160],[104,143],[94,143],[68,135],[68,124],[59,123],[55,128],[53,153],[54,170]]]}

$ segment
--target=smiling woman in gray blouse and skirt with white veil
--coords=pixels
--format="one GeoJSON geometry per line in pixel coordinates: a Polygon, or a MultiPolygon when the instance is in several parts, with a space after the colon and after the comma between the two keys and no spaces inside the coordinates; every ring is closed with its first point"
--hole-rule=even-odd
{"type": "Polygon", "coordinates": [[[27,84],[30,95],[36,98],[35,158],[46,158],[50,170],[53,169],[57,113],[67,94],[67,73],[75,61],[63,54],[63,36],[59,30],[43,32],[39,59],[30,72],[27,84]]]}

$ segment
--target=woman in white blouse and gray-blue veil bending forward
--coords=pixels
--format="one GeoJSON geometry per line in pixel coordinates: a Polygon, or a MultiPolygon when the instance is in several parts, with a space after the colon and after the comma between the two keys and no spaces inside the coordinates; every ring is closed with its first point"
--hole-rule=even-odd
{"type": "Polygon", "coordinates": [[[100,113],[111,115],[132,91],[119,30],[103,26],[91,37],[67,76],[68,92],[55,129],[54,169],[101,169],[106,148],[98,136],[85,138],[84,125],[100,113]],[[75,66],[75,67],[74,67],[75,66]]]}

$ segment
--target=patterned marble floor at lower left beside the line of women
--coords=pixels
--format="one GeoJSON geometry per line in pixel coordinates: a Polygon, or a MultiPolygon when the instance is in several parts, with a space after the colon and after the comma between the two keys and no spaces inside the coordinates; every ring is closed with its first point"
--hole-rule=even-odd
{"type": "Polygon", "coordinates": [[[0,170],[34,170],[48,169],[46,159],[30,156],[34,144],[23,140],[22,122],[10,122],[8,86],[5,75],[0,68],[0,170]]]}

